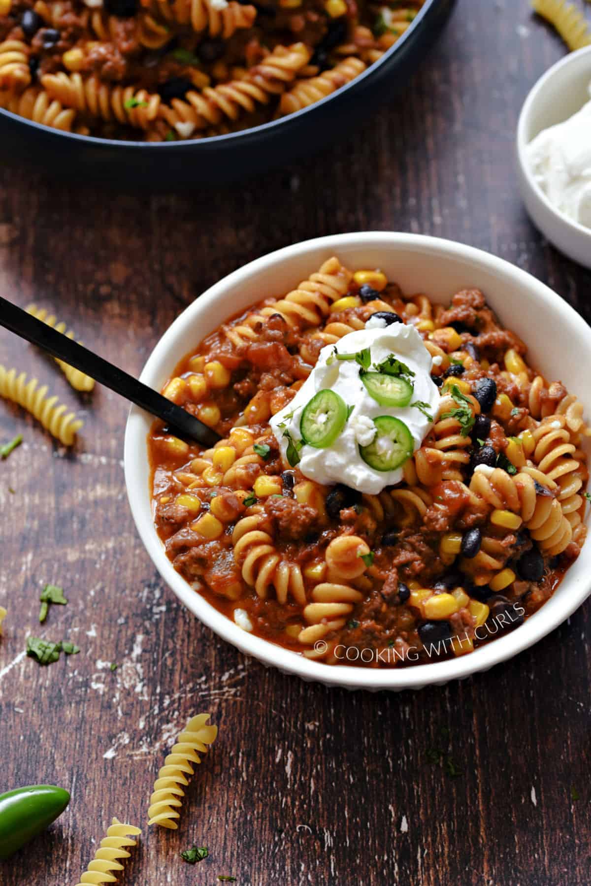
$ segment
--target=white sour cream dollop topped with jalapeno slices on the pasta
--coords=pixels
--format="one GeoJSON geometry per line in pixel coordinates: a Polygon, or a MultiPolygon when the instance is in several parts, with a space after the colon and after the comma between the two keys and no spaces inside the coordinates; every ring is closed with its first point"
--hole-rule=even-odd
{"type": "Polygon", "coordinates": [[[393,486],[402,479],[402,465],[395,470],[376,470],[365,462],[360,447],[374,443],[378,455],[386,458],[393,447],[391,439],[380,436],[374,419],[392,416],[403,422],[412,438],[416,452],[432,428],[432,420],[439,408],[439,390],[431,378],[432,358],[423,339],[413,326],[393,323],[391,326],[369,328],[350,332],[340,338],[336,345],[323,347],[315,368],[285,408],[270,420],[271,428],[284,457],[289,463],[287,449],[292,440],[299,448],[299,470],[304,477],[328,486],[344,483],[359,492],[380,493],[385,486],[393,486]],[[408,377],[413,385],[410,403],[416,406],[384,406],[372,397],[362,382],[360,364],[354,360],[337,360],[338,354],[357,354],[369,348],[370,370],[394,356],[415,373],[408,377]],[[315,448],[302,440],[302,412],[316,393],[330,390],[337,393],[350,408],[350,415],[343,430],[330,446],[315,448]]]}

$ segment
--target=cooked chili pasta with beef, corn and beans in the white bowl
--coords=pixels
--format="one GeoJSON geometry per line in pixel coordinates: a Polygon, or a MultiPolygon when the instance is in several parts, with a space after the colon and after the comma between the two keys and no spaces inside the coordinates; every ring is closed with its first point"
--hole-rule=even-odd
{"type": "Polygon", "coordinates": [[[585,540],[591,433],[575,394],[525,354],[476,289],[435,304],[423,292],[404,295],[379,269],[324,261],[286,295],[196,343],[167,382],[170,399],[222,434],[200,449],[152,428],[154,514],[167,556],[238,626],[329,664],[460,656],[519,626],[585,540]],[[415,342],[430,367],[432,412],[413,400],[422,382],[395,346],[371,364],[383,335],[415,342]],[[374,344],[352,351],[361,340],[374,344]],[[307,378],[331,364],[318,376],[330,384],[318,383],[302,409],[307,378]],[[374,437],[359,401],[339,411],[340,367],[352,367],[347,378],[361,380],[370,402],[400,406],[398,419],[373,422],[393,421],[393,436],[374,437]],[[323,408],[313,407],[318,396],[323,408]],[[408,448],[404,404],[425,428],[408,448]],[[398,459],[400,482],[369,491],[310,474],[317,462],[306,453],[337,457],[331,447],[351,433],[349,422],[351,457],[376,476],[398,459]]]}

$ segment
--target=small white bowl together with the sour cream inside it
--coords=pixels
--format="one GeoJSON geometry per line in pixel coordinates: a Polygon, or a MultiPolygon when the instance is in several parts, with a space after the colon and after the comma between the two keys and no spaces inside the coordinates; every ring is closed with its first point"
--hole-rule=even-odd
{"type": "Polygon", "coordinates": [[[535,84],[517,124],[517,169],[527,212],[542,234],[591,268],[591,46],[535,84]]]}

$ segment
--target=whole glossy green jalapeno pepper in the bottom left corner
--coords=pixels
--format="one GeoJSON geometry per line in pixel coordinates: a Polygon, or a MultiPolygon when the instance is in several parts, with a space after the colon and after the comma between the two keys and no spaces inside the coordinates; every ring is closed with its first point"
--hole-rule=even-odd
{"type": "Polygon", "coordinates": [[[51,784],[34,784],[0,794],[0,859],[49,828],[66,809],[70,795],[51,784]]]}

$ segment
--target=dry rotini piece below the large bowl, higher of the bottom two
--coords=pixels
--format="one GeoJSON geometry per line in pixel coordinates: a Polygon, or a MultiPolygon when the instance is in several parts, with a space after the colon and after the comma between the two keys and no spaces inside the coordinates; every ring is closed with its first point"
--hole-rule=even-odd
{"type": "Polygon", "coordinates": [[[175,819],[180,819],[181,816],[176,809],[183,805],[179,797],[184,797],[180,785],[189,784],[185,774],[195,774],[191,763],[201,762],[196,751],[205,754],[208,750],[207,745],[214,742],[217,735],[216,726],[206,725],[210,716],[210,714],[198,714],[197,717],[192,717],[165,759],[150,797],[149,825],[159,825],[160,828],[171,830],[178,828],[175,819]]]}

